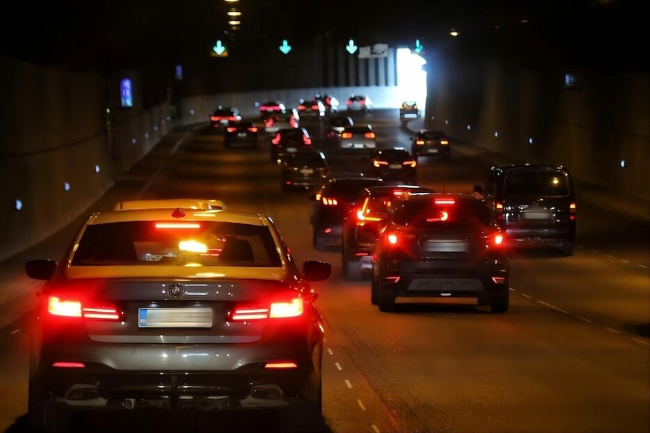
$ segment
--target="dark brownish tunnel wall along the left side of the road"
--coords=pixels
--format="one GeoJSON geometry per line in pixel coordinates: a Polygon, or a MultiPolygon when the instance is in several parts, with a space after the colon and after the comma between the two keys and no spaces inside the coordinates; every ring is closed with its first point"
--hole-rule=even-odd
{"type": "Polygon", "coordinates": [[[70,223],[166,134],[166,103],[143,109],[138,74],[120,77],[0,58],[0,259],[70,223]],[[127,76],[134,107],[106,113],[127,76]]]}

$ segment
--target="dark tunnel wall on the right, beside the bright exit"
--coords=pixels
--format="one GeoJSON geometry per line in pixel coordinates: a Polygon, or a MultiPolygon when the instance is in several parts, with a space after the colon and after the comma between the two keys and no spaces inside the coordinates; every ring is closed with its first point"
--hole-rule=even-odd
{"type": "Polygon", "coordinates": [[[650,74],[427,60],[427,127],[514,161],[563,164],[582,182],[648,200],[650,74]]]}

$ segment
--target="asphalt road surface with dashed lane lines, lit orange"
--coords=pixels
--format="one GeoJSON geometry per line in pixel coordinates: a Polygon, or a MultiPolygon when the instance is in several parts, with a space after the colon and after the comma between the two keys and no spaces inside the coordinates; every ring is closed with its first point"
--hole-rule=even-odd
{"type": "MultiPolygon", "coordinates": [[[[363,120],[372,123],[381,147],[410,147],[412,134],[397,120],[397,111],[376,111],[357,123],[363,120]]],[[[318,136],[314,122],[306,126],[318,136]]],[[[331,262],[333,276],[315,283],[326,318],[327,431],[650,430],[647,223],[579,201],[579,247],[573,256],[512,255],[507,313],[445,304],[400,304],[396,313],[379,313],[370,304],[369,282],[342,278],[338,251],[313,249],[308,194],[280,189],[280,169],[269,162],[267,137],[260,136],[260,145],[260,150],[226,150],[221,136],[207,127],[177,132],[95,209],[108,210],[119,198],[220,198],[232,210],[273,216],[299,262],[331,262]]],[[[363,164],[340,163],[342,168],[363,164]]],[[[457,145],[449,161],[421,158],[418,178],[434,189],[469,192],[484,182],[491,164],[457,145]]],[[[29,253],[41,258],[62,251],[78,226],[72,222],[29,253]]],[[[0,305],[0,430],[25,431],[26,331],[37,288],[18,290],[0,305]]],[[[86,417],[79,428],[282,431],[278,423],[266,413],[219,420],[214,414],[111,414],[86,417]]]]}

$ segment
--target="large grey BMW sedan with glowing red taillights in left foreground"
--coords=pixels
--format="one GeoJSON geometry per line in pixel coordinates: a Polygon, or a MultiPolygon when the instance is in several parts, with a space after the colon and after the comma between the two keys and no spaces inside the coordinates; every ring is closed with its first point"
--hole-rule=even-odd
{"type": "MultiPolygon", "coordinates": [[[[40,293],[29,422],[129,409],[297,410],[319,423],[322,316],[274,222],[216,210],[93,214],[40,293]]],[[[146,412],[144,412],[146,414],[146,412]]]]}

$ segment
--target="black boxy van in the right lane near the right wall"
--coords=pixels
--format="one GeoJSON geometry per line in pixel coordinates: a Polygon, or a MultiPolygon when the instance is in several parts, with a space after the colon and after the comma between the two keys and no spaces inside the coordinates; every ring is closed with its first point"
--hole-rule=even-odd
{"type": "Polygon", "coordinates": [[[477,194],[493,208],[509,246],[546,244],[566,255],[576,246],[576,192],[562,166],[492,167],[477,194]]]}

